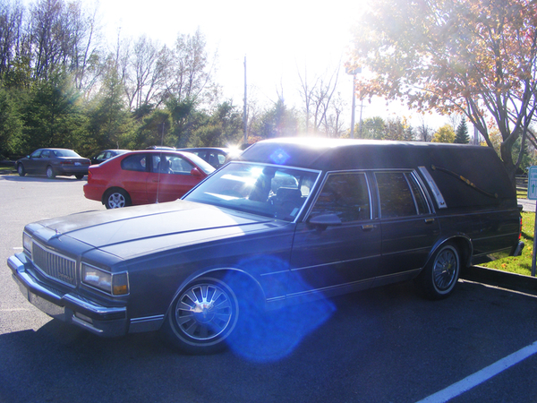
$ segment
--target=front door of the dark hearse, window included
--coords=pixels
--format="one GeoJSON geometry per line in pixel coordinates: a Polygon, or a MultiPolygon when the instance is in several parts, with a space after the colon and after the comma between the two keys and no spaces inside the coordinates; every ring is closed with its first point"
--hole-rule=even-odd
{"type": "Polygon", "coordinates": [[[328,174],[305,222],[297,224],[291,256],[291,294],[338,294],[368,287],[380,259],[380,226],[373,220],[363,172],[328,174]],[[328,225],[312,224],[326,220],[328,225]]]}

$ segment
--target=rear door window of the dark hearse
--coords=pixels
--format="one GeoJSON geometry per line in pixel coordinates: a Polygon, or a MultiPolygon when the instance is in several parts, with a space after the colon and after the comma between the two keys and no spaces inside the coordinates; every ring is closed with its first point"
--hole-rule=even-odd
{"type": "Polygon", "coordinates": [[[380,217],[409,217],[429,212],[427,201],[410,173],[377,172],[380,217]]]}

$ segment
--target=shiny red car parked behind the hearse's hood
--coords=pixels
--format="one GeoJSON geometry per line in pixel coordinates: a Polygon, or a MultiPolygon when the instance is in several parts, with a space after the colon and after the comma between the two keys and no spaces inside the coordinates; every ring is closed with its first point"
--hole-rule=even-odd
{"type": "Polygon", "coordinates": [[[214,170],[190,152],[131,151],[92,165],[84,196],[107,209],[174,201],[214,170]]]}

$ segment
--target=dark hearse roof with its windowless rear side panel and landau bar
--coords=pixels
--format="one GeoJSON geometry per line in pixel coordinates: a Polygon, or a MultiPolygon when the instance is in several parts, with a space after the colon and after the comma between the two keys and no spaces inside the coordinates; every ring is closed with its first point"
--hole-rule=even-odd
{"type": "Polygon", "coordinates": [[[516,204],[507,172],[490,147],[296,137],[257,142],[241,159],[323,171],[426,167],[448,206],[486,206],[502,200],[516,204]]]}

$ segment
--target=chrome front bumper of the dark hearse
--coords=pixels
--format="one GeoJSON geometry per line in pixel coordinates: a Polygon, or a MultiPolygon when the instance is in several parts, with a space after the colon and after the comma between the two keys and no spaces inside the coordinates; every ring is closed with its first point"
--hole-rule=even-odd
{"type": "Polygon", "coordinates": [[[24,253],[7,260],[14,281],[31,304],[53,318],[70,322],[102,337],[124,336],[129,327],[126,307],[107,307],[72,293],[64,294],[38,281],[26,270],[24,253]]]}

